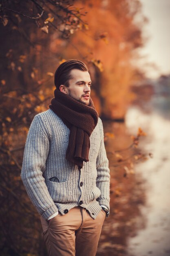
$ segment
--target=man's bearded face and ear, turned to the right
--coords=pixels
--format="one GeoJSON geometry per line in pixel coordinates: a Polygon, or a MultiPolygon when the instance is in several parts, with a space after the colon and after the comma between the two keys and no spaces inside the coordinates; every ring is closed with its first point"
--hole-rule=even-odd
{"type": "Polygon", "coordinates": [[[69,80],[69,87],[60,85],[60,90],[73,99],[89,105],[91,93],[91,77],[87,71],[73,69],[70,72],[72,79],[69,80]]]}

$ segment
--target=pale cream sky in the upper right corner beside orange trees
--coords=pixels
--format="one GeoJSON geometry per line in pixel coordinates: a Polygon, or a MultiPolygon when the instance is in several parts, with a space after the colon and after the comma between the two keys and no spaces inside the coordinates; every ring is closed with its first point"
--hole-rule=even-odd
{"type": "Polygon", "coordinates": [[[149,19],[144,26],[144,36],[148,37],[145,47],[140,50],[144,58],[139,65],[144,66],[150,78],[170,74],[170,0],[141,0],[142,12],[149,19]],[[144,65],[146,61],[156,69],[144,65]]]}

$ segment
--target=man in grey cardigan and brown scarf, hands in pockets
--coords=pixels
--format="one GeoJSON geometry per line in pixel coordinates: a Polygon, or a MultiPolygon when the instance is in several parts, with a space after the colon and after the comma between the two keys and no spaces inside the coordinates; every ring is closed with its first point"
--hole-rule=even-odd
{"type": "Polygon", "coordinates": [[[21,178],[49,256],[95,256],[109,215],[110,174],[87,66],[65,61],[55,86],[49,109],[29,128],[21,178]]]}

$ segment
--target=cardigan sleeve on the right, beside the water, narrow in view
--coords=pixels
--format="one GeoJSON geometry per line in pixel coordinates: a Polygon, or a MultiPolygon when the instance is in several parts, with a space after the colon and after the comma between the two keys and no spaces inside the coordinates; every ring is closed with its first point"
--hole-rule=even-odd
{"type": "Polygon", "coordinates": [[[96,161],[96,168],[97,168],[97,179],[96,179],[96,186],[100,189],[101,195],[99,197],[99,204],[105,205],[110,209],[110,170],[108,167],[108,159],[106,156],[106,150],[104,146],[104,131],[103,131],[103,124],[102,120],[99,119],[101,122],[101,145],[100,150],[97,156],[96,161]]]}

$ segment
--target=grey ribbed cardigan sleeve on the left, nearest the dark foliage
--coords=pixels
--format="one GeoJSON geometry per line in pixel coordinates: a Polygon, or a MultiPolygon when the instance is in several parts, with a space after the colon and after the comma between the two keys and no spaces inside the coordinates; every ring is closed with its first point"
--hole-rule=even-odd
{"type": "Polygon", "coordinates": [[[31,202],[46,220],[58,211],[42,175],[46,168],[49,144],[48,135],[42,129],[38,115],[35,115],[26,138],[21,179],[31,202]]]}

